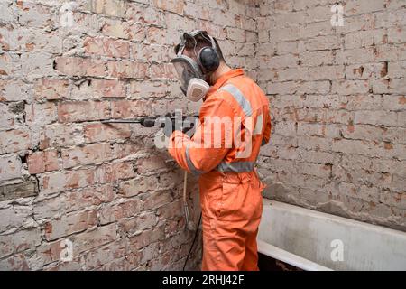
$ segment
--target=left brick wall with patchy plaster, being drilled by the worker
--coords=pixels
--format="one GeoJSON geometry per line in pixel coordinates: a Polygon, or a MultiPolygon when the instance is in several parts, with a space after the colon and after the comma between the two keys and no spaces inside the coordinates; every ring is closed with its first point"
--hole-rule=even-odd
{"type": "MultiPolygon", "coordinates": [[[[255,77],[258,9],[63,3],[0,1],[0,269],[180,269],[192,239],[183,173],[154,149],[156,130],[100,120],[198,108],[169,63],[182,30],[208,30],[255,77]],[[73,260],[62,262],[69,241],[73,260]]],[[[194,208],[197,191],[189,178],[194,208]]],[[[189,267],[198,259],[199,247],[189,267]]]]}

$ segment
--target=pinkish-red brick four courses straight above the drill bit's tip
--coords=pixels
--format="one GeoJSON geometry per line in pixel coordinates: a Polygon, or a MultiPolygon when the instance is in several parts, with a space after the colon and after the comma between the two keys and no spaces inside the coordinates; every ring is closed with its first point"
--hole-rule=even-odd
{"type": "Polygon", "coordinates": [[[114,40],[111,38],[88,37],[85,39],[84,46],[85,51],[89,54],[121,58],[128,58],[130,54],[130,45],[128,42],[114,40]]]}

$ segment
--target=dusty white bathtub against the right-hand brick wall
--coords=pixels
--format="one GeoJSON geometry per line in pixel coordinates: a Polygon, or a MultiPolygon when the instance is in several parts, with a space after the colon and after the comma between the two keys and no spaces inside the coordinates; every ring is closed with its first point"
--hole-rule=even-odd
{"type": "Polygon", "coordinates": [[[303,270],[406,270],[406,233],[267,199],[258,251],[303,270]]]}

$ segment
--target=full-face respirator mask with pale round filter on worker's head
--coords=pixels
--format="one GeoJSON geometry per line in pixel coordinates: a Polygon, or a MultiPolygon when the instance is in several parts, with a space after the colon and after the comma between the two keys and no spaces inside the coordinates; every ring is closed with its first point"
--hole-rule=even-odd
{"type": "Polygon", "coordinates": [[[217,54],[217,45],[213,37],[205,31],[194,31],[183,33],[180,37],[180,44],[175,48],[177,56],[171,60],[180,78],[180,89],[191,101],[198,101],[208,93],[208,79],[210,74],[217,70],[220,65],[220,58],[217,54]],[[211,43],[196,51],[198,36],[211,43]],[[198,61],[183,55],[185,49],[193,51],[198,61]]]}

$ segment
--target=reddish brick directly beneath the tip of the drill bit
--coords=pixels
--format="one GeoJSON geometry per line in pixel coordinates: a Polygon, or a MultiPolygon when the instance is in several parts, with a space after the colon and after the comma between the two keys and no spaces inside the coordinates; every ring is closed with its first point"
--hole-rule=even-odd
{"type": "Polygon", "coordinates": [[[125,139],[131,136],[128,124],[90,124],[85,126],[85,140],[87,143],[125,139]]]}

